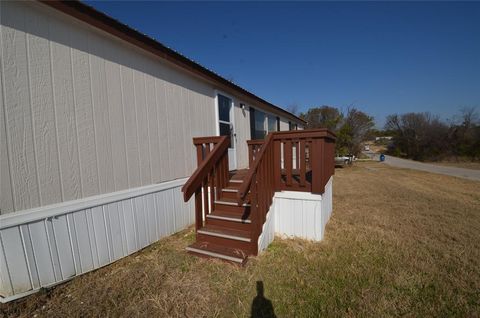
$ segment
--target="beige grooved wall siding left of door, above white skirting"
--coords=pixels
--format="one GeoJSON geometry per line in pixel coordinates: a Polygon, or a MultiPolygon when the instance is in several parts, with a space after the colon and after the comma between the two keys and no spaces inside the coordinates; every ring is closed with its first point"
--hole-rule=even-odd
{"type": "Polygon", "coordinates": [[[42,4],[0,6],[1,214],[191,175],[212,86],[42,4]]]}

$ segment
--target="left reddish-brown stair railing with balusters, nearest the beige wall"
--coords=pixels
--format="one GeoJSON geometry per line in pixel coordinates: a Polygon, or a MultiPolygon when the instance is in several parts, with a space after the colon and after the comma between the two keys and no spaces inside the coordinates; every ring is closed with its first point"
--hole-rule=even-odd
{"type": "Polygon", "coordinates": [[[203,226],[207,214],[212,212],[214,200],[228,184],[228,146],[230,138],[193,138],[197,150],[198,168],[182,187],[187,202],[195,193],[195,228],[203,226]]]}

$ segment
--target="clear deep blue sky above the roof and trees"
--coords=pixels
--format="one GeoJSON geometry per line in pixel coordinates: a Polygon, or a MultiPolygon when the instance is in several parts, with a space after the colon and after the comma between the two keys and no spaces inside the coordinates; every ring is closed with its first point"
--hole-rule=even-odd
{"type": "Polygon", "coordinates": [[[480,2],[88,2],[279,106],[480,111],[480,2]]]}

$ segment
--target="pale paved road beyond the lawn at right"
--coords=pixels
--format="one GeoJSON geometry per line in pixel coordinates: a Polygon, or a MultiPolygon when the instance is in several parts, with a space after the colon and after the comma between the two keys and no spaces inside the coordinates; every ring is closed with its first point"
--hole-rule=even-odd
{"type": "MultiPolygon", "coordinates": [[[[378,154],[367,153],[373,159],[378,160],[378,154]]],[[[398,167],[422,170],[432,173],[445,174],[474,181],[480,181],[480,170],[464,169],[457,167],[439,166],[430,163],[423,163],[413,160],[401,159],[392,156],[385,156],[385,164],[398,167]]]]}

